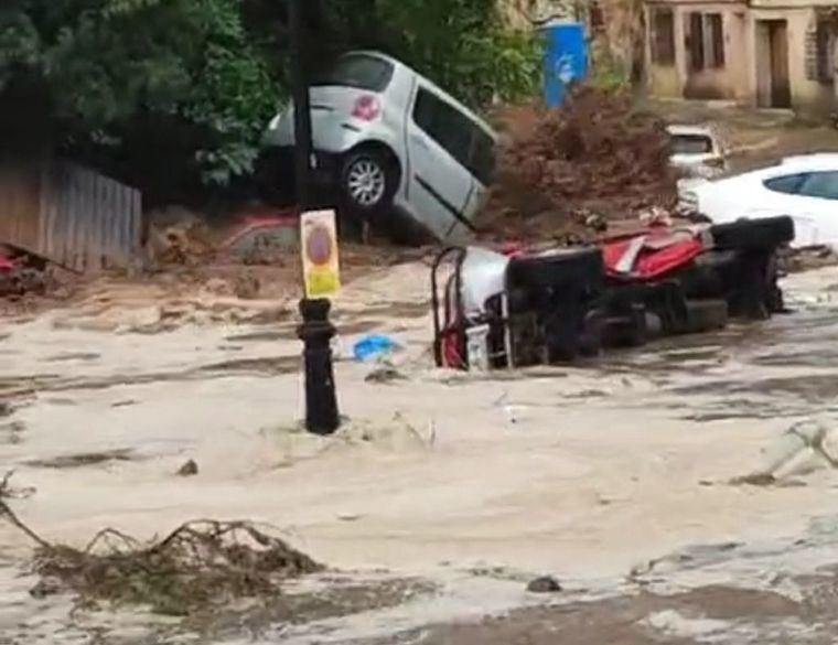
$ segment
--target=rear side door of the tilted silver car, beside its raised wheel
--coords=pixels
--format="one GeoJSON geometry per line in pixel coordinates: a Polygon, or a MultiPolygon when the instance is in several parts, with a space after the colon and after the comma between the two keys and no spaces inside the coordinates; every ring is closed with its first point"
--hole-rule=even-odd
{"type": "Polygon", "coordinates": [[[415,216],[438,238],[471,228],[466,216],[474,191],[469,171],[471,120],[417,80],[407,119],[408,193],[415,216]]]}

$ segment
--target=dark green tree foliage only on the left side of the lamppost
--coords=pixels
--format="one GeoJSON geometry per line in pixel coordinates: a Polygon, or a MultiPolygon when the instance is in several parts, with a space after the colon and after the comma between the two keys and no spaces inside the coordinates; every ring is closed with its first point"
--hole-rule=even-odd
{"type": "Polygon", "coordinates": [[[251,170],[278,87],[238,0],[14,1],[0,14],[0,90],[15,76],[42,79],[76,152],[109,164],[101,149],[125,157],[130,139],[143,164],[193,165],[211,183],[251,170]],[[150,138],[131,136],[150,121],[150,138]],[[160,158],[170,138],[189,139],[179,152],[191,160],[160,158]]]}

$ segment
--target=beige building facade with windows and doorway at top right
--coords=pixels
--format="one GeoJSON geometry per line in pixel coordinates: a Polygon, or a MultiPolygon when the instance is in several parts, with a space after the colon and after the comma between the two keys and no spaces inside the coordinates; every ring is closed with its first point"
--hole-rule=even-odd
{"type": "Polygon", "coordinates": [[[831,112],[835,17],[829,4],[813,0],[647,1],[649,90],[831,112]]]}

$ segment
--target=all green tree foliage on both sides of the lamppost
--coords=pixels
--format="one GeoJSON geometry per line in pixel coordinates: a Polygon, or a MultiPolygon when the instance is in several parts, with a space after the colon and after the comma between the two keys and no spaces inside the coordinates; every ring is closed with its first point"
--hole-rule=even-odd
{"type": "MultiPolygon", "coordinates": [[[[75,157],[163,194],[226,185],[253,170],[261,131],[287,94],[284,0],[0,4],[7,127],[21,112],[46,115],[49,128],[33,122],[33,131],[49,130],[75,157]]],[[[379,49],[474,107],[535,90],[539,42],[504,29],[497,0],[304,7],[315,32],[312,63],[379,49]]]]}

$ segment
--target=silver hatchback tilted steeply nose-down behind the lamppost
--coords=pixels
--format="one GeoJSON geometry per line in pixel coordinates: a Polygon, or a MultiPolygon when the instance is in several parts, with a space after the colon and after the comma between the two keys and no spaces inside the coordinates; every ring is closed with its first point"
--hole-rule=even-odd
{"type": "MultiPolygon", "coordinates": [[[[311,115],[319,175],[343,207],[396,237],[416,237],[418,226],[456,240],[473,228],[496,135],[437,85],[384,54],[351,52],[312,84],[311,115]]],[[[292,168],[293,107],[264,143],[292,168]]]]}

